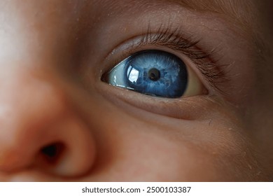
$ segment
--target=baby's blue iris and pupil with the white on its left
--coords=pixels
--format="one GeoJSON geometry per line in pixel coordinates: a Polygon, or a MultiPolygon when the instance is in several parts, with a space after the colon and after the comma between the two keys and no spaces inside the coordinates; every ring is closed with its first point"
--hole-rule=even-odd
{"type": "Polygon", "coordinates": [[[106,76],[106,82],[158,97],[181,97],[188,73],[176,55],[161,50],[144,50],[124,59],[106,76]]]}

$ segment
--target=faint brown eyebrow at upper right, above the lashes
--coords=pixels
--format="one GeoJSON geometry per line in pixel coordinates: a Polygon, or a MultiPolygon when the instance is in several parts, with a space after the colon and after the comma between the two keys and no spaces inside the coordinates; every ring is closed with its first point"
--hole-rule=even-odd
{"type": "MultiPolygon", "coordinates": [[[[269,55],[269,45],[260,35],[258,29],[258,9],[253,1],[247,0],[165,0],[171,3],[176,3],[183,8],[189,10],[216,13],[222,18],[228,20],[233,26],[241,30],[241,36],[248,36],[251,38],[254,45],[255,55],[258,60],[265,61],[269,55]]],[[[238,33],[238,31],[237,31],[238,33]]]]}

